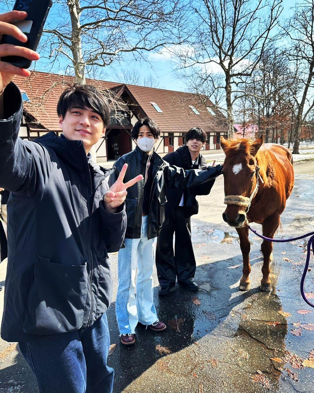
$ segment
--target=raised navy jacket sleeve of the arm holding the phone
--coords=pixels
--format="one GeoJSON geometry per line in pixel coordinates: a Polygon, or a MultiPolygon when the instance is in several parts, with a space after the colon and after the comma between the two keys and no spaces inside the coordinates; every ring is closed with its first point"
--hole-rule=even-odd
{"type": "Polygon", "coordinates": [[[33,196],[46,184],[53,163],[41,145],[18,137],[23,103],[13,82],[4,90],[4,103],[5,119],[0,119],[0,187],[33,196]]]}

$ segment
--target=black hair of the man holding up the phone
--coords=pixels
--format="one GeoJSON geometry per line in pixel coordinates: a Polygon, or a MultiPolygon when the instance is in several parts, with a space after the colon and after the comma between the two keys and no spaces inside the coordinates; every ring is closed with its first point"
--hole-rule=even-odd
{"type": "Polygon", "coordinates": [[[94,86],[79,83],[69,85],[60,95],[57,114],[64,118],[66,112],[72,108],[91,108],[102,118],[104,127],[109,124],[110,106],[108,100],[94,86]]]}

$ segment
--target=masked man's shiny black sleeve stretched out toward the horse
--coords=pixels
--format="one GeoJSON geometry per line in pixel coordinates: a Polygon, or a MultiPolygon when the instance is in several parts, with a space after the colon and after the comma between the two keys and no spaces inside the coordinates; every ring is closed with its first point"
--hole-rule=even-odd
{"type": "Polygon", "coordinates": [[[205,170],[201,169],[184,169],[170,165],[165,167],[165,181],[168,187],[187,188],[214,180],[221,174],[223,167],[217,165],[216,167],[208,167],[205,170]]]}

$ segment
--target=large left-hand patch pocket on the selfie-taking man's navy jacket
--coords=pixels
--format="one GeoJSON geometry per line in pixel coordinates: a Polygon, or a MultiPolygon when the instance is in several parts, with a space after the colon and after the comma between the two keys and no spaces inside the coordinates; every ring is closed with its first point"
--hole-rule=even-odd
{"type": "Polygon", "coordinates": [[[84,265],[64,265],[38,256],[29,291],[24,332],[57,334],[80,329],[88,287],[84,265]]]}

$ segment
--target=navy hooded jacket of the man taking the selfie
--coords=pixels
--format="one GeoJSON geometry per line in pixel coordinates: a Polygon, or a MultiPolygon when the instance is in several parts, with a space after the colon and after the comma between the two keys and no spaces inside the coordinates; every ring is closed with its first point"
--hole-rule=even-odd
{"type": "Polygon", "coordinates": [[[18,138],[22,97],[4,92],[0,120],[0,187],[7,204],[8,265],[1,336],[58,334],[92,325],[111,302],[108,252],[119,250],[124,205],[108,213],[103,195],[110,171],[88,161],[82,141],[50,132],[18,138]]]}

